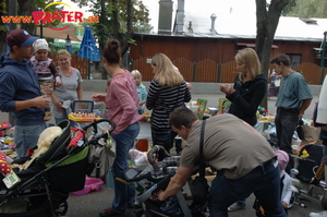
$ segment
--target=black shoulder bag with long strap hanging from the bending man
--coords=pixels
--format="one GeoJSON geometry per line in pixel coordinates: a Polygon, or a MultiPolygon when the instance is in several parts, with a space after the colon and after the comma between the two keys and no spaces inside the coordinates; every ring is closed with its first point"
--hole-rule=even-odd
{"type": "Polygon", "coordinates": [[[201,204],[207,201],[209,185],[207,179],[205,178],[205,164],[203,157],[203,143],[204,143],[204,130],[205,130],[206,120],[203,120],[201,128],[201,137],[199,137],[199,169],[198,174],[193,181],[192,196],[193,202],[201,204]]]}

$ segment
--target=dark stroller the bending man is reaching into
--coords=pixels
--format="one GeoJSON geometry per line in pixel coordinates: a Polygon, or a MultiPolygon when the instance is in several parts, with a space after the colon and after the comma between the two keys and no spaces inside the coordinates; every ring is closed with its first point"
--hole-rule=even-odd
{"type": "Polygon", "coordinates": [[[144,217],[180,217],[180,216],[205,216],[207,203],[195,204],[186,201],[183,191],[179,191],[174,196],[168,197],[165,202],[154,200],[154,195],[165,190],[170,178],[178,169],[180,156],[170,156],[162,146],[156,145],[148,153],[148,165],[144,170],[129,168],[124,171],[125,180],[117,180],[134,185],[136,196],[136,216],[144,217]],[[159,161],[157,161],[159,160],[159,161]]]}

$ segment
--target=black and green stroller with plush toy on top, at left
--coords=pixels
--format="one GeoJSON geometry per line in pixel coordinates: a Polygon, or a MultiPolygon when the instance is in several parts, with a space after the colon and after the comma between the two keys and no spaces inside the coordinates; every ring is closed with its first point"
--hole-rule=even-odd
{"type": "MultiPolygon", "coordinates": [[[[109,133],[114,130],[114,123],[102,119],[84,126],[97,133],[97,123],[108,122],[109,133]]],[[[84,189],[85,174],[89,168],[89,145],[97,144],[108,132],[86,141],[83,134],[83,144],[68,149],[71,137],[70,121],[61,121],[58,126],[62,134],[57,137],[49,149],[36,158],[31,167],[16,172],[21,179],[16,185],[8,189],[1,185],[0,217],[52,217],[63,216],[68,212],[66,200],[69,192],[84,189]]],[[[14,162],[25,161],[26,158],[14,162]]]]}

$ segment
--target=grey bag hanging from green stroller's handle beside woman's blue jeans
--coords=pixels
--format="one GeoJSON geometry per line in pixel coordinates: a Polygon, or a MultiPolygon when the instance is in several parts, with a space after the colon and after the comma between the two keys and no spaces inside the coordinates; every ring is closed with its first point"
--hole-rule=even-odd
{"type": "Polygon", "coordinates": [[[100,138],[97,144],[89,145],[87,176],[105,177],[113,165],[116,157],[116,141],[108,133],[108,138],[100,138]]]}

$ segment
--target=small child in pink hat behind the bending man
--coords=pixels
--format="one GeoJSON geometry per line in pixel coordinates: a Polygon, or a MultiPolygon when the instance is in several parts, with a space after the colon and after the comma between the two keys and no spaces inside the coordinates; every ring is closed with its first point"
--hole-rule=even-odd
{"type": "MultiPolygon", "coordinates": [[[[289,164],[289,155],[284,150],[275,150],[277,155],[277,160],[280,168],[280,191],[281,191],[281,206],[288,214],[288,205],[290,204],[292,195],[292,178],[284,171],[289,164]]],[[[256,209],[256,216],[265,216],[265,209],[261,206],[259,201],[255,201],[254,208],[256,209]]]]}

